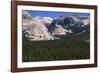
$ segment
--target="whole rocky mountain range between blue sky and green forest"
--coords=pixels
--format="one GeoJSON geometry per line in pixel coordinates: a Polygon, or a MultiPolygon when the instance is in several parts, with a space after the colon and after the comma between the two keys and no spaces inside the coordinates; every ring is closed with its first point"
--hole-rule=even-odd
{"type": "Polygon", "coordinates": [[[67,37],[85,37],[89,40],[90,18],[88,16],[61,15],[59,18],[44,16],[32,17],[22,12],[23,36],[30,41],[68,39],[67,37]]]}

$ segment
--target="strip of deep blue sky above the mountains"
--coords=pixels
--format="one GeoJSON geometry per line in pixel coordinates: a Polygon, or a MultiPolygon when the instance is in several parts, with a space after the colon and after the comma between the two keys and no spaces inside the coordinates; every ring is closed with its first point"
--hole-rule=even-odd
{"type": "Polygon", "coordinates": [[[76,13],[76,12],[55,12],[55,11],[35,11],[35,10],[24,10],[35,16],[46,16],[51,18],[59,18],[61,15],[79,15],[79,16],[90,16],[89,13],[76,13]]]}

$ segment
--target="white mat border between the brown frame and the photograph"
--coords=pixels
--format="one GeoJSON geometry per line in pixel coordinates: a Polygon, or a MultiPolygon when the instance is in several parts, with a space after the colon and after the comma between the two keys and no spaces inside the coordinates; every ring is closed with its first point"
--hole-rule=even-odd
{"type": "Polygon", "coordinates": [[[80,65],[80,64],[94,64],[94,10],[92,9],[77,9],[77,8],[57,8],[57,7],[40,7],[40,6],[23,6],[17,7],[17,67],[43,67],[43,66],[59,66],[59,65],[80,65]],[[22,10],[41,10],[41,11],[58,11],[58,12],[82,12],[90,13],[90,59],[87,60],[64,60],[64,61],[45,61],[45,62],[25,62],[22,63],[22,10]]]}

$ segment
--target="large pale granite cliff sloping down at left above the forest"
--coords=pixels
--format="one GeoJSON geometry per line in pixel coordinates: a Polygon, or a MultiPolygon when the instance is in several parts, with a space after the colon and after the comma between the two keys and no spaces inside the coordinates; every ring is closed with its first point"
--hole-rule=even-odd
{"type": "MultiPolygon", "coordinates": [[[[26,11],[23,12],[23,32],[31,41],[33,40],[50,40],[53,39],[44,21],[40,17],[32,18],[26,11]]],[[[50,23],[48,21],[48,23],[50,23]]]]}

